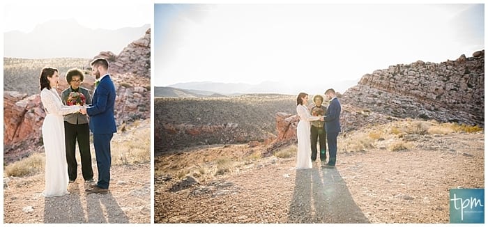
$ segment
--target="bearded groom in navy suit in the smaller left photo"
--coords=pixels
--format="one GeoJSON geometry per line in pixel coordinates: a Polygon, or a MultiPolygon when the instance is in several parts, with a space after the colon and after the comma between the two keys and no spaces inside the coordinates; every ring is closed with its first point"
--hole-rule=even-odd
{"type": "Polygon", "coordinates": [[[117,132],[114,118],[115,86],[108,74],[109,63],[105,58],[96,58],[91,63],[96,78],[91,108],[86,109],[90,116],[90,130],[93,132],[93,145],[98,168],[98,182],[85,191],[87,193],[107,193],[110,182],[110,141],[117,132]]]}

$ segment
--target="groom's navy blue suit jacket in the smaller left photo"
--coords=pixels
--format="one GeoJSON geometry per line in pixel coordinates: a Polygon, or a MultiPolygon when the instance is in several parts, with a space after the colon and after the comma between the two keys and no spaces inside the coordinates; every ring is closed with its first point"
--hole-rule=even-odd
{"type": "Polygon", "coordinates": [[[102,78],[95,89],[91,108],[86,109],[90,116],[90,130],[93,134],[111,134],[117,132],[114,117],[115,86],[110,75],[102,78]]]}

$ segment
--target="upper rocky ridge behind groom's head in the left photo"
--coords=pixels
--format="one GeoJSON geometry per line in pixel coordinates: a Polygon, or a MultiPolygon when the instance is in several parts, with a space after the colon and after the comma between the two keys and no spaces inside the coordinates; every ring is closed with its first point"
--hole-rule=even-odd
{"type": "Polygon", "coordinates": [[[151,78],[151,29],[139,40],[131,42],[119,55],[100,52],[93,59],[99,57],[109,61],[111,73],[151,78]]]}

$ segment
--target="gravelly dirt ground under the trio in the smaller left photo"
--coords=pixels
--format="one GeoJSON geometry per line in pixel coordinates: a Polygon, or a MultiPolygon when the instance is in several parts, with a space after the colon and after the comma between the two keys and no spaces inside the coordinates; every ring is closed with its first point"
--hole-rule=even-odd
{"type": "MultiPolygon", "coordinates": [[[[45,198],[44,175],[3,180],[5,223],[151,223],[151,164],[112,166],[108,194],[86,194],[82,178],[70,194],[45,198]]],[[[81,168],[78,175],[81,176],[81,168]]],[[[93,166],[94,175],[98,175],[93,166]]]]}

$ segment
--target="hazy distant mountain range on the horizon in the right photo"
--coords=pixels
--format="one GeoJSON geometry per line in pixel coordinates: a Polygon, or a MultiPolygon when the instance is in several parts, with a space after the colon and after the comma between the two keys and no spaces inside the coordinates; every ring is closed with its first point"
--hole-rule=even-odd
{"type": "Polygon", "coordinates": [[[284,95],[297,95],[300,92],[313,94],[323,94],[328,88],[334,88],[340,93],[344,93],[351,86],[358,83],[357,80],[341,82],[330,82],[323,84],[296,85],[287,82],[264,81],[261,84],[245,83],[221,83],[211,81],[188,82],[171,84],[165,87],[156,86],[154,89],[155,97],[208,97],[219,95],[242,95],[248,93],[276,93],[284,95]]]}

